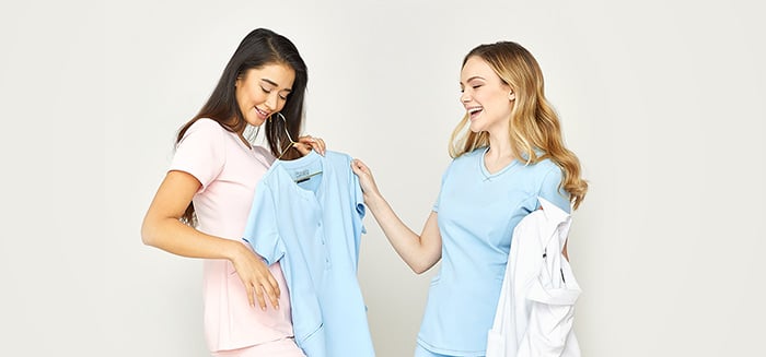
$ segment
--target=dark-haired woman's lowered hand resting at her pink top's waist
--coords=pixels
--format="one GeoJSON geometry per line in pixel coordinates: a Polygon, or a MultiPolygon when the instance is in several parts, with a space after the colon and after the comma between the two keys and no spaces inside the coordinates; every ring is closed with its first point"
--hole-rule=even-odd
{"type": "Polygon", "coordinates": [[[266,262],[248,249],[245,245],[239,243],[242,249],[237,250],[237,254],[232,259],[232,264],[236,274],[240,276],[242,284],[247,290],[247,300],[251,307],[255,307],[255,300],[262,310],[266,310],[266,298],[264,293],[271,301],[275,309],[279,309],[279,284],[268,270],[266,262]]]}

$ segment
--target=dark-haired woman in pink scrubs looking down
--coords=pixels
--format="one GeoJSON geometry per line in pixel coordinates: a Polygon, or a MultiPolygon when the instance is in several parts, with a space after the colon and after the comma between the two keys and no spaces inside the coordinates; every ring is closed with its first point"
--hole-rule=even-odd
{"type": "Polygon", "coordinates": [[[240,238],[275,157],[324,154],[321,139],[299,138],[306,82],[306,66],[288,38],[251,32],[199,114],[181,128],[143,219],[146,245],[205,259],[205,335],[214,356],[303,356],[279,263],[267,266],[240,238]],[[268,150],[245,138],[247,127],[256,135],[265,127],[268,150]]]}

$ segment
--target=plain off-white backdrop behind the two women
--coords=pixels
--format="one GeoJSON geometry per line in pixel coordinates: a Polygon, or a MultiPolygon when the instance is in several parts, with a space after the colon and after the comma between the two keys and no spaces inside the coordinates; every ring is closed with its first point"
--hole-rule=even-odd
{"type": "MultiPolygon", "coordinates": [[[[139,226],[178,127],[251,29],[310,68],[304,133],[362,158],[422,227],[463,56],[530,49],[591,185],[570,255],[583,356],[752,356],[766,300],[757,1],[3,1],[0,355],[207,356],[201,262],[139,226]]],[[[431,271],[365,218],[379,356],[411,356],[431,271]]],[[[455,311],[460,313],[460,311],[455,311]]]]}

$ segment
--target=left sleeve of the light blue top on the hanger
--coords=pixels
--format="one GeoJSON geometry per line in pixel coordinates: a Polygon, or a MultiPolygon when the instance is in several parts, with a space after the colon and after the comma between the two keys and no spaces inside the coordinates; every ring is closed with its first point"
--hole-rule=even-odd
{"type": "Polygon", "coordinates": [[[247,216],[247,224],[243,240],[266,260],[267,264],[274,264],[285,257],[285,245],[279,237],[277,227],[277,207],[274,203],[274,193],[262,180],[255,189],[253,206],[247,216]]]}

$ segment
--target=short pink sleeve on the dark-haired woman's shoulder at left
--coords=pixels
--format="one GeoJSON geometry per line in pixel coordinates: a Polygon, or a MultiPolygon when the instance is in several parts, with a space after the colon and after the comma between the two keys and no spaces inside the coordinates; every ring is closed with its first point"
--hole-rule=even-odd
{"type": "Polygon", "coordinates": [[[223,170],[227,160],[223,128],[210,119],[199,119],[176,144],[169,170],[188,172],[205,191],[223,170]]]}

